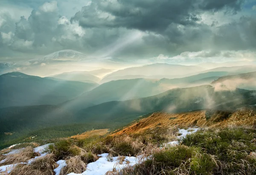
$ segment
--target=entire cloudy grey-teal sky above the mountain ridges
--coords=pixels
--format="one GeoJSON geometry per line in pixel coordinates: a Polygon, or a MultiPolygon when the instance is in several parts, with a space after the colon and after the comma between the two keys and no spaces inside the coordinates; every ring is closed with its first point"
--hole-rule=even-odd
{"type": "Polygon", "coordinates": [[[0,1],[0,62],[63,49],[128,62],[256,61],[256,0],[0,1]]]}

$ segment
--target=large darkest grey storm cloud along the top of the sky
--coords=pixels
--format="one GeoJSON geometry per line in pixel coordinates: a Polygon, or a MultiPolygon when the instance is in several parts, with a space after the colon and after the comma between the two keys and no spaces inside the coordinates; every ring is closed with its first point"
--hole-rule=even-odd
{"type": "Polygon", "coordinates": [[[243,0],[94,0],[71,20],[87,27],[126,27],[162,32],[175,23],[196,25],[205,11],[239,11],[243,0]]]}

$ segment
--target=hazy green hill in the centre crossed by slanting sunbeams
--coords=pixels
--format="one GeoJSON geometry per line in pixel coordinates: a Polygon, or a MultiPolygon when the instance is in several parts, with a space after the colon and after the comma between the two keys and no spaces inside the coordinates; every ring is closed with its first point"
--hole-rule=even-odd
{"type": "Polygon", "coordinates": [[[103,83],[95,89],[85,92],[78,98],[64,103],[67,108],[83,109],[87,103],[100,104],[115,100],[130,100],[134,98],[148,97],[165,92],[166,88],[156,80],[132,79],[116,80],[103,83]]]}

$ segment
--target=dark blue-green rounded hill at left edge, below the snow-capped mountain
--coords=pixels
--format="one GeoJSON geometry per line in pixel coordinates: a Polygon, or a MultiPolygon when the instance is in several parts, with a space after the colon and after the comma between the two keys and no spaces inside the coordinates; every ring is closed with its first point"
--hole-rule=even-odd
{"type": "Polygon", "coordinates": [[[77,81],[58,81],[20,72],[0,76],[0,108],[58,104],[76,98],[96,85],[77,81]]]}

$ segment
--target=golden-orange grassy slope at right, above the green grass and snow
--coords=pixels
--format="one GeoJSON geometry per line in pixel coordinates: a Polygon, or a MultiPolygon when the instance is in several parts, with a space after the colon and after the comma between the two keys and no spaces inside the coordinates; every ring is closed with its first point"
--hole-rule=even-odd
{"type": "Polygon", "coordinates": [[[256,108],[244,107],[233,112],[226,110],[196,110],[182,113],[154,112],[135,120],[128,126],[119,129],[111,135],[131,135],[145,132],[148,129],[166,127],[228,127],[252,126],[256,121],[256,108]]]}

